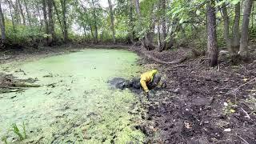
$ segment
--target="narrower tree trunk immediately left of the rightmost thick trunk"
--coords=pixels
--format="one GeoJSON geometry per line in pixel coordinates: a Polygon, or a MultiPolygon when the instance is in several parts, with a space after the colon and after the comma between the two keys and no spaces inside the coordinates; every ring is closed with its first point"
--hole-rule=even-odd
{"type": "Polygon", "coordinates": [[[240,46],[240,2],[235,5],[235,15],[234,15],[234,26],[233,26],[233,39],[232,39],[232,47],[235,53],[238,53],[240,46]]]}

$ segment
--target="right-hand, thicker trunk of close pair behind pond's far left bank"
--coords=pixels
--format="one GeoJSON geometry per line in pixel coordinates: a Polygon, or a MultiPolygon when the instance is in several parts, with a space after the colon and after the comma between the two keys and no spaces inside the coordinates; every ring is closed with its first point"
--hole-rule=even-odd
{"type": "Polygon", "coordinates": [[[52,42],[54,42],[55,39],[55,34],[54,34],[54,20],[53,20],[53,1],[54,0],[47,0],[47,4],[48,4],[48,18],[49,18],[49,34],[50,34],[50,38],[49,38],[49,46],[52,45],[52,42]]]}

